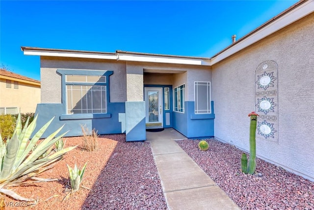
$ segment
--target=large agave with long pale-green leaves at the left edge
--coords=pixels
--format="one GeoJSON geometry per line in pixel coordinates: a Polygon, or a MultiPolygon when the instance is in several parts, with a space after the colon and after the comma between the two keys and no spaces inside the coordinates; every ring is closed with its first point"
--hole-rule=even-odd
{"type": "Polygon", "coordinates": [[[53,120],[52,118],[52,120],[48,121],[34,134],[32,139],[29,140],[36,127],[37,117],[38,115],[29,125],[28,118],[22,130],[21,114],[19,114],[12,138],[8,138],[6,142],[4,142],[0,136],[0,193],[16,200],[33,201],[34,199],[21,197],[12,190],[7,189],[8,187],[26,185],[29,183],[25,183],[26,180],[51,181],[52,179],[42,179],[37,176],[52,168],[54,163],[62,158],[63,154],[75,148],[69,147],[54,153],[50,152],[47,156],[40,159],[39,157],[47,152],[47,150],[50,150],[52,145],[67,132],[55,137],[63,128],[62,126],[37,144],[38,140],[53,120]],[[37,147],[32,151],[36,144],[37,147]]]}

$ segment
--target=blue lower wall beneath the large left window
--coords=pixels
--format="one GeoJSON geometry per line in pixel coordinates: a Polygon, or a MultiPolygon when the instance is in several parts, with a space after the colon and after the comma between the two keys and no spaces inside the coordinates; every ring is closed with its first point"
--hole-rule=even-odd
{"type": "MultiPolygon", "coordinates": [[[[61,133],[69,131],[65,136],[81,136],[81,125],[85,125],[88,130],[95,128],[98,134],[116,134],[122,133],[121,122],[119,122],[119,113],[125,112],[125,103],[108,103],[107,114],[90,114],[81,118],[81,115],[64,115],[64,104],[38,104],[35,115],[38,114],[38,120],[35,128],[37,132],[46,122],[52,120],[52,123],[43,134],[43,138],[48,137],[52,132],[64,124],[61,133]],[[68,116],[69,118],[65,117],[68,116]],[[88,117],[89,116],[89,117],[88,117]],[[61,120],[64,119],[64,120],[61,120]]],[[[35,133],[34,132],[34,133],[35,133]]],[[[34,134],[33,133],[33,134],[34,134]]]]}

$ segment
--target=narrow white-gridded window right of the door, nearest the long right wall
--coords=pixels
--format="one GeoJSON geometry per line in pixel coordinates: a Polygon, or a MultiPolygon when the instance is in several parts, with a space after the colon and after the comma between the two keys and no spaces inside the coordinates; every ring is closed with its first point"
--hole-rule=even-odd
{"type": "Polygon", "coordinates": [[[195,114],[210,114],[210,82],[194,82],[195,114]]]}

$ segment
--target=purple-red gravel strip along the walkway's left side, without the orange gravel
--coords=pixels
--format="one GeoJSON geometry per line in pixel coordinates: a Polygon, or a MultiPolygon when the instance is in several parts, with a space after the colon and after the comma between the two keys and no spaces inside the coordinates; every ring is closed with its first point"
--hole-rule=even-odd
{"type": "Polygon", "coordinates": [[[167,209],[150,144],[115,140],[118,144],[82,209],[167,209]]]}

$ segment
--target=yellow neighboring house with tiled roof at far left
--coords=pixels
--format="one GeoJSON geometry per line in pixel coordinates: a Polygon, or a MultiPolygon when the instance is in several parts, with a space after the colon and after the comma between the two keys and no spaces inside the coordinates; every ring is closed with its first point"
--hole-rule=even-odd
{"type": "Polygon", "coordinates": [[[40,81],[0,69],[0,114],[34,113],[40,81]]]}

